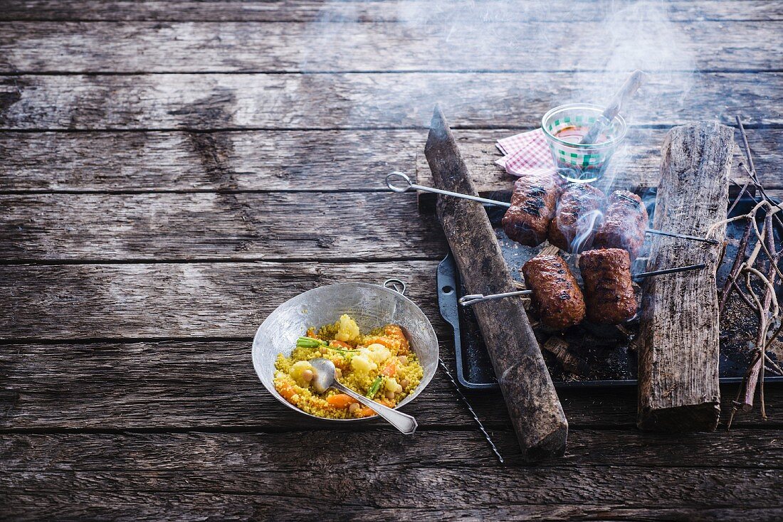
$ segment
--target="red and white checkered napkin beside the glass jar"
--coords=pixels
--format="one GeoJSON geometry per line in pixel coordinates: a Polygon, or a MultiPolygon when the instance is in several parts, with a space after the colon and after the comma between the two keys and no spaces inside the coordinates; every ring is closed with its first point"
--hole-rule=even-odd
{"type": "Polygon", "coordinates": [[[495,163],[514,176],[554,174],[554,160],[543,131],[522,132],[497,140],[497,148],[505,154],[495,163]]]}

